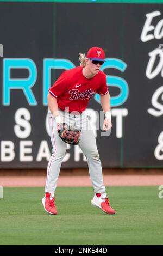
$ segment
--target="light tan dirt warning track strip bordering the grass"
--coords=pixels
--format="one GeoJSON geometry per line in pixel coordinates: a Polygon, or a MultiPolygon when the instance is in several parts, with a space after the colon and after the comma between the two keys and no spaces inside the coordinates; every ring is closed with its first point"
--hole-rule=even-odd
{"type": "MultiPolygon", "coordinates": [[[[0,176],[3,187],[44,187],[46,176],[0,176]]],[[[104,175],[105,186],[160,186],[163,175],[104,175]]],[[[60,176],[58,187],[91,186],[90,177],[60,176]]]]}

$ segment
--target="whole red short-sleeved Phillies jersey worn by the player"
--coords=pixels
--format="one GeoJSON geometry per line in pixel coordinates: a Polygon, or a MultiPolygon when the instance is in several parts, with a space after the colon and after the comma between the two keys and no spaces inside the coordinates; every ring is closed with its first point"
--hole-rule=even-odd
{"type": "Polygon", "coordinates": [[[69,107],[70,112],[82,113],[95,93],[100,95],[108,93],[106,75],[102,71],[89,79],[83,75],[82,70],[83,67],[79,66],[64,71],[48,89],[48,92],[57,99],[60,109],[69,107]]]}

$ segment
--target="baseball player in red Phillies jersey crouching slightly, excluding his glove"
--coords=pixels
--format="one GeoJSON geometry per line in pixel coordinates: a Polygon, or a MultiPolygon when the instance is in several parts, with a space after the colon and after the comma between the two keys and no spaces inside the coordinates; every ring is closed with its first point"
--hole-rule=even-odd
{"type": "Polygon", "coordinates": [[[42,198],[42,204],[49,214],[57,214],[54,193],[62,159],[67,149],[67,143],[61,139],[58,131],[61,130],[60,127],[63,127],[63,124],[66,124],[81,131],[79,147],[87,158],[95,192],[91,204],[101,208],[107,214],[115,214],[115,210],[111,208],[106,197],[96,138],[84,112],[91,97],[98,93],[105,113],[103,130],[111,129],[110,95],[106,84],[106,75],[100,71],[105,61],[105,53],[102,48],[92,47],[86,57],[82,53],[79,55],[80,66],[64,71],[48,89],[48,121],[53,153],[47,166],[46,194],[42,198]]]}

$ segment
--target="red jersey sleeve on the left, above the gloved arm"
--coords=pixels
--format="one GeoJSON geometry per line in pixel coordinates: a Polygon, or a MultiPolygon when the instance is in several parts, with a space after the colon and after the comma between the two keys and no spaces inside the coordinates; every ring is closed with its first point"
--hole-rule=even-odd
{"type": "Polygon", "coordinates": [[[58,98],[67,91],[67,86],[69,82],[64,73],[62,73],[58,80],[55,81],[53,86],[48,89],[49,94],[51,94],[53,97],[58,98]]]}

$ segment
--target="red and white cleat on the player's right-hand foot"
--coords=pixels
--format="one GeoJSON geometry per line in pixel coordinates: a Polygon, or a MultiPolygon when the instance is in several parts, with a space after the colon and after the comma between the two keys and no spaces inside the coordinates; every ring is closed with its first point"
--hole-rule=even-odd
{"type": "Polygon", "coordinates": [[[111,208],[106,193],[102,193],[100,197],[97,197],[95,194],[91,200],[91,204],[101,208],[106,214],[115,214],[115,210],[111,208]]]}

